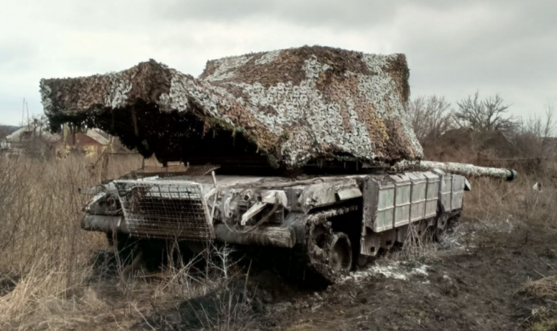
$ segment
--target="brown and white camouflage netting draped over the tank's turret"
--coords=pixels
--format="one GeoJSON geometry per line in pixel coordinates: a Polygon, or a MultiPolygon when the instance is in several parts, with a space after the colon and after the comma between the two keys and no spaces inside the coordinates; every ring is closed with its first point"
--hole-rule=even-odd
{"type": "Polygon", "coordinates": [[[159,160],[419,160],[402,54],[301,47],[207,62],[198,79],[156,61],[107,75],[42,79],[53,128],[107,130],[159,160]]]}

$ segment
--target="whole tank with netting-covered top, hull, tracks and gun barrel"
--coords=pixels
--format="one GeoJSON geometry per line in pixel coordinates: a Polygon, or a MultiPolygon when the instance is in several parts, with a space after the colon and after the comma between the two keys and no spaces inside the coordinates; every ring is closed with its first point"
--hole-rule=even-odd
{"type": "Polygon", "coordinates": [[[40,91],[54,130],[100,128],[163,164],[85,190],[84,229],[146,253],[276,250],[331,283],[407,238],[442,240],[466,176],[517,176],[422,160],[408,77],[403,54],[301,47],[209,61],[198,78],[151,60],[40,91]]]}

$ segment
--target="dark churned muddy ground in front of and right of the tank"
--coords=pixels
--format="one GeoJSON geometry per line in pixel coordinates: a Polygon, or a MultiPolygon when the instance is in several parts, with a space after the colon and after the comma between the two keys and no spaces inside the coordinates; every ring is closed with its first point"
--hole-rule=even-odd
{"type": "Polygon", "coordinates": [[[448,247],[425,255],[383,256],[322,291],[252,270],[248,298],[238,286],[231,297],[211,294],[148,316],[134,330],[216,328],[207,316],[223,302],[249,301],[232,323],[245,330],[526,330],[540,307],[557,311],[557,302],[519,291],[529,278],[557,274],[557,229],[462,220],[448,247]]]}

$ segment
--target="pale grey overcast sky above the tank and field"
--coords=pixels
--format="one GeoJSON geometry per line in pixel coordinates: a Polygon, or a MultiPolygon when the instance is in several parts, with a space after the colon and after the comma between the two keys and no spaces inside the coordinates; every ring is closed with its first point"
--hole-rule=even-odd
{"type": "Polygon", "coordinates": [[[197,76],[208,59],[302,45],[405,53],[411,95],[500,93],[513,114],[557,103],[555,0],[0,0],[0,123],[42,113],[39,80],[155,59],[197,76]],[[396,2],[396,3],[395,3],[396,2]]]}

